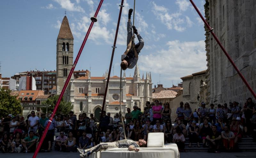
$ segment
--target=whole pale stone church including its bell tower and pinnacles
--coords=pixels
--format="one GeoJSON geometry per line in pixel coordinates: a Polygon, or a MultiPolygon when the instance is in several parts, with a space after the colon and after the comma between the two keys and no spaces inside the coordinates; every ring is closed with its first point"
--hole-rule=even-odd
{"type": "MultiPolygon", "coordinates": [[[[73,40],[68,19],[65,16],[57,38],[57,94],[60,94],[73,65],[73,40]]],[[[133,77],[126,77],[125,71],[120,77],[109,78],[104,110],[113,116],[120,111],[121,101],[123,112],[126,112],[128,107],[132,110],[134,105],[143,111],[146,101],[152,102],[151,74],[147,73],[145,79],[144,75],[140,78],[140,70],[136,65],[133,77]],[[120,77],[122,77],[121,96],[120,77]]],[[[64,93],[64,99],[72,103],[77,116],[85,112],[87,115],[93,113],[96,118],[100,117],[107,79],[108,72],[105,72],[102,77],[93,77],[89,74],[89,76],[74,79],[72,75],[64,93]]]]}

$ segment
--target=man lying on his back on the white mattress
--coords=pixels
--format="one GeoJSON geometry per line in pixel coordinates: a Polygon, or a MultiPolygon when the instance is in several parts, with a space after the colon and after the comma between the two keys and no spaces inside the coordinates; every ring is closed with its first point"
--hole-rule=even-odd
{"type": "Polygon", "coordinates": [[[138,149],[137,147],[142,147],[142,146],[145,146],[146,144],[147,144],[147,142],[143,139],[140,139],[138,141],[124,139],[124,140],[118,140],[118,141],[110,142],[110,143],[100,143],[100,144],[98,144],[92,148],[86,149],[86,150],[77,148],[77,151],[80,153],[80,157],[86,158],[93,152],[98,152],[100,150],[107,149],[108,147],[128,148],[128,150],[130,150],[130,151],[138,152],[140,149],[138,149]]]}

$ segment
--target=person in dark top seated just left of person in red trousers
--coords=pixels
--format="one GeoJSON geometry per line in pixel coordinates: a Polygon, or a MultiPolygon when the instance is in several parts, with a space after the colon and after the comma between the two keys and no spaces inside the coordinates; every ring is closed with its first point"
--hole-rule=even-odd
{"type": "Polygon", "coordinates": [[[212,125],[212,133],[206,136],[210,149],[210,153],[219,153],[221,133],[216,130],[216,125],[212,125]]]}

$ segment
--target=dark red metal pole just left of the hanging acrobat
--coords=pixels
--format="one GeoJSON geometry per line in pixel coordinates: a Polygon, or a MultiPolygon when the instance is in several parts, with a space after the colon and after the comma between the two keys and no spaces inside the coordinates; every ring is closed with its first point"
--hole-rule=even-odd
{"type": "MultiPolygon", "coordinates": [[[[124,7],[123,4],[124,4],[124,0],[122,0],[121,5],[119,5],[119,6],[120,6],[120,11],[119,11],[119,17],[118,17],[117,26],[116,26],[116,36],[115,36],[115,40],[114,40],[114,45],[112,46],[113,50],[112,50],[111,60],[110,60],[109,69],[108,69],[108,79],[107,79],[107,84],[106,84],[106,88],[105,88],[105,94],[104,94],[104,99],[103,99],[103,104],[102,104],[102,109],[101,109],[100,118],[102,117],[102,112],[104,111],[104,106],[105,106],[105,102],[106,102],[106,96],[107,96],[107,91],[108,91],[108,82],[109,82],[109,77],[110,77],[112,62],[113,62],[114,53],[115,53],[115,48],[116,48],[116,39],[117,39],[117,34],[118,34],[118,29],[119,29],[119,24],[120,24],[122,9],[123,9],[123,7],[124,7]]],[[[120,77],[121,77],[121,76],[120,76],[120,77]]],[[[100,127],[100,125],[99,125],[99,127],[100,127]]]]}

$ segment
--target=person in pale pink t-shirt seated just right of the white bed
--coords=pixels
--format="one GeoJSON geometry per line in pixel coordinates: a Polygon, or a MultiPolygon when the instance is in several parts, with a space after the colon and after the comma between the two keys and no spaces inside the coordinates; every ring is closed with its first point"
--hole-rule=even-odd
{"type": "Polygon", "coordinates": [[[185,137],[184,135],[181,133],[181,129],[180,127],[177,127],[176,128],[176,132],[174,135],[173,135],[173,140],[172,142],[176,143],[177,146],[178,146],[178,149],[180,152],[187,152],[187,150],[185,149],[185,137]]]}

